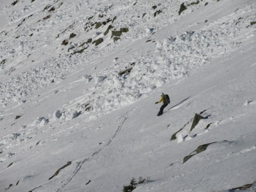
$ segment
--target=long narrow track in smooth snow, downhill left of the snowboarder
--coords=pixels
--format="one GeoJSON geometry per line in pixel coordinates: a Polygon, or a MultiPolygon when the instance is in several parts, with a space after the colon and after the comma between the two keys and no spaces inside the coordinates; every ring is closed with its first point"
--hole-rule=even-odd
{"type": "MultiPolygon", "coordinates": [[[[134,110],[134,109],[133,109],[134,110]]],[[[68,180],[65,182],[65,184],[63,184],[59,189],[55,190],[56,192],[61,192],[67,185],[69,182],[72,181],[72,179],[76,176],[76,174],[79,172],[79,170],[82,168],[82,166],[84,165],[84,163],[86,163],[87,161],[89,161],[92,157],[94,157],[95,155],[97,155],[101,150],[103,150],[105,147],[107,147],[112,140],[116,137],[116,135],[118,134],[118,132],[120,132],[120,130],[122,129],[122,126],[124,125],[124,122],[128,119],[128,117],[130,116],[131,112],[133,110],[130,110],[128,112],[126,112],[125,114],[123,114],[122,116],[120,116],[117,121],[121,121],[120,125],[116,128],[116,132],[114,132],[114,134],[112,135],[112,137],[108,140],[108,142],[106,142],[106,144],[104,145],[104,147],[100,148],[99,150],[97,150],[96,152],[94,152],[90,158],[86,158],[84,159],[82,162],[77,162],[78,165],[76,167],[76,169],[74,170],[74,172],[72,173],[72,175],[70,176],[70,178],[68,178],[68,180]]]]}

